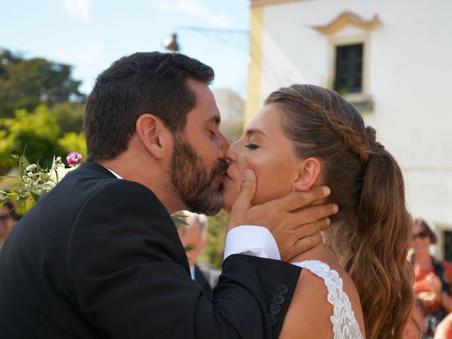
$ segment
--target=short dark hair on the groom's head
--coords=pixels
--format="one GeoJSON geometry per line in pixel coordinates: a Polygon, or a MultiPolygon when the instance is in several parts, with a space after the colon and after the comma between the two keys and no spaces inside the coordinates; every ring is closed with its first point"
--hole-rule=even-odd
{"type": "Polygon", "coordinates": [[[115,61],[97,77],[85,105],[88,160],[108,160],[126,150],[136,120],[151,113],[176,133],[196,106],[188,78],[207,85],[214,73],[184,54],[143,52],[115,61]]]}

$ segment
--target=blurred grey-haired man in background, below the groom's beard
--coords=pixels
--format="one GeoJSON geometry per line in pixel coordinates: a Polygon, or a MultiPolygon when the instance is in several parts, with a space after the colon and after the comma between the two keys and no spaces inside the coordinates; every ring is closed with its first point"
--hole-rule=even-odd
{"type": "Polygon", "coordinates": [[[187,250],[186,256],[189,258],[191,279],[201,285],[204,295],[208,299],[212,299],[212,289],[218,283],[220,272],[208,267],[199,266],[197,263],[198,256],[204,247],[206,247],[208,217],[186,210],[182,214],[186,215],[185,221],[188,225],[177,224],[177,232],[181,238],[182,245],[187,250]]]}

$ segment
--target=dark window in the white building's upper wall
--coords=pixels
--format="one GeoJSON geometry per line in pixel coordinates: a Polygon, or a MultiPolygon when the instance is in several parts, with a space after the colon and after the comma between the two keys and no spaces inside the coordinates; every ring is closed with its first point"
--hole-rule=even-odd
{"type": "Polygon", "coordinates": [[[334,88],[338,93],[362,93],[363,44],[336,46],[334,88]]]}

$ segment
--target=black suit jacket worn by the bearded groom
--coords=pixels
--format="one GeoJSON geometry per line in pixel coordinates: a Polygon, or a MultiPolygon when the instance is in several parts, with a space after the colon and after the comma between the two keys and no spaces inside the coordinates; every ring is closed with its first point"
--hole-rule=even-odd
{"type": "Polygon", "coordinates": [[[230,256],[210,302],[153,192],[87,162],[6,239],[0,338],[277,337],[299,272],[230,256]]]}

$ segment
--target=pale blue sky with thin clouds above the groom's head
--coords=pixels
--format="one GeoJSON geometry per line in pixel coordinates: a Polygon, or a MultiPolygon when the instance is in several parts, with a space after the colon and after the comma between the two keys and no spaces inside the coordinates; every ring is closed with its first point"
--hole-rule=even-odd
{"type": "Polygon", "coordinates": [[[88,94],[96,76],[133,52],[160,51],[178,35],[181,52],[215,70],[213,88],[246,92],[249,37],[191,28],[249,29],[249,0],[13,0],[0,11],[0,47],[73,65],[88,94]]]}

